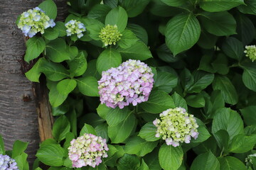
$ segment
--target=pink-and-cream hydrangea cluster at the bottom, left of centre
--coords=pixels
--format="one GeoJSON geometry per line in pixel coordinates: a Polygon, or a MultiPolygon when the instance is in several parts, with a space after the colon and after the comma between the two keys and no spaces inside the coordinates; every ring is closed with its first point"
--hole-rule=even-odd
{"type": "Polygon", "coordinates": [[[107,143],[102,137],[85,133],[73,139],[68,147],[68,157],[73,163],[73,167],[98,166],[102,162],[102,157],[107,157],[107,143]]]}

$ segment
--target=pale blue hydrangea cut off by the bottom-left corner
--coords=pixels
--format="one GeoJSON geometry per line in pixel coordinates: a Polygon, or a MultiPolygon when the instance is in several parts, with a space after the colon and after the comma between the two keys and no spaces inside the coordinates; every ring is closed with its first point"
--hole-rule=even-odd
{"type": "Polygon", "coordinates": [[[18,170],[17,163],[8,155],[0,154],[0,170],[18,170]]]}

